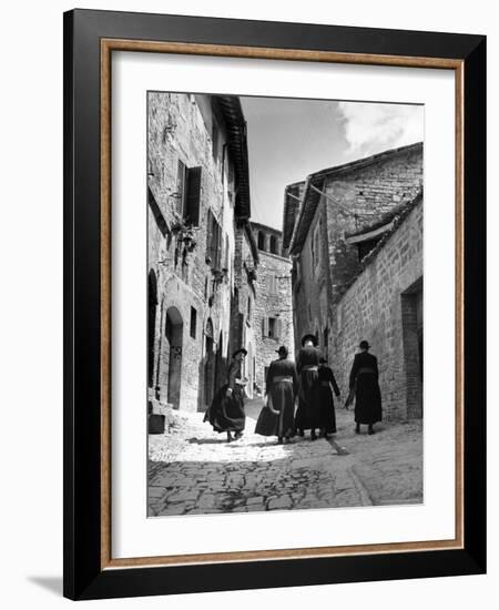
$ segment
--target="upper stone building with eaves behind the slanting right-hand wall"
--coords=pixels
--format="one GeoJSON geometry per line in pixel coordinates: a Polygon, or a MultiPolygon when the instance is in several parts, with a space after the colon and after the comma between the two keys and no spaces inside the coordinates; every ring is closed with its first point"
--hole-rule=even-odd
{"type": "Polygon", "coordinates": [[[317,336],[322,354],[334,347],[336,303],[361,265],[356,245],[347,243],[385,214],[413,201],[422,184],[422,145],[387,151],[325,172],[315,214],[294,258],[295,346],[306,333],[317,336]],[[326,196],[327,195],[327,196],[326,196]]]}

